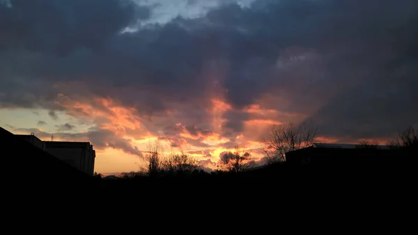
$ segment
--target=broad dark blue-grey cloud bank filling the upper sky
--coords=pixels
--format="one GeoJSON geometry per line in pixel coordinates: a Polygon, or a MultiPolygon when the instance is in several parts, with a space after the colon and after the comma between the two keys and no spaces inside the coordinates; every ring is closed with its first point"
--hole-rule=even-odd
{"type": "MultiPolygon", "coordinates": [[[[224,90],[216,94],[235,111],[269,94],[281,102],[263,106],[309,115],[327,136],[380,136],[418,120],[415,0],[228,3],[123,34],[150,9],[116,0],[11,3],[0,5],[1,107],[55,110],[65,88],[54,85],[83,81],[65,92],[109,95],[148,116],[188,103],[197,108],[185,126],[194,127],[209,120],[217,81],[224,90]]],[[[224,136],[248,119],[225,117],[224,136]]]]}

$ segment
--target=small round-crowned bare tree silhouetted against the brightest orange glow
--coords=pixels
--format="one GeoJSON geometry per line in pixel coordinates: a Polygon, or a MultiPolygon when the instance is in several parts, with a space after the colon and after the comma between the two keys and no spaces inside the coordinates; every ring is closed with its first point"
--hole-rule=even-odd
{"type": "Polygon", "coordinates": [[[222,165],[230,172],[242,172],[254,166],[255,161],[244,148],[235,146],[234,152],[227,152],[221,156],[222,165]]]}

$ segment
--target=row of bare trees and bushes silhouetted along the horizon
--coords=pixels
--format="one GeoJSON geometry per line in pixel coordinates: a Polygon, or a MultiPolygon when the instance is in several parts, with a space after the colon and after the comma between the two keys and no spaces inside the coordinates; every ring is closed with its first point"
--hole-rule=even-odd
{"type": "MultiPolygon", "coordinates": [[[[291,152],[304,147],[309,147],[314,143],[325,143],[318,138],[318,127],[309,125],[280,124],[274,125],[266,135],[261,147],[263,152],[262,164],[270,165],[264,168],[264,172],[269,169],[284,170],[286,168],[286,152],[291,152]]],[[[376,148],[379,143],[373,140],[362,140],[357,144],[358,148],[376,148]]],[[[387,141],[386,145],[392,149],[406,149],[417,151],[418,131],[412,126],[387,141]]],[[[245,148],[235,147],[231,152],[224,152],[217,162],[217,170],[204,169],[199,165],[199,161],[193,156],[184,152],[180,154],[169,154],[164,156],[162,144],[155,140],[148,143],[144,152],[143,163],[138,172],[124,172],[121,179],[143,179],[156,177],[227,177],[236,175],[249,176],[261,175],[261,170],[254,169],[256,161],[245,148]],[[237,174],[240,173],[240,174],[237,174]]],[[[260,163],[260,162],[259,162],[260,163]]],[[[95,173],[95,178],[102,178],[102,175],[95,173]]]]}

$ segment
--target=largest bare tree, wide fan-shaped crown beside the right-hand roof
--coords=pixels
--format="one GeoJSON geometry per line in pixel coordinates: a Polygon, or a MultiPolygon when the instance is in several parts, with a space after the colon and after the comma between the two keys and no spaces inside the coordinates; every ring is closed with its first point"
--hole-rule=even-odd
{"type": "Polygon", "coordinates": [[[263,143],[262,151],[268,164],[286,160],[286,152],[310,147],[318,141],[318,127],[302,124],[273,125],[263,143]]]}

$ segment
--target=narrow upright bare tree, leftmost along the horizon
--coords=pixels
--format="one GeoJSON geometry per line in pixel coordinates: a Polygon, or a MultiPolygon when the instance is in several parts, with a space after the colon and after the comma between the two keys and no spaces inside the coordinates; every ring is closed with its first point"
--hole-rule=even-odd
{"type": "Polygon", "coordinates": [[[162,168],[162,152],[163,147],[159,140],[149,142],[146,145],[146,152],[144,152],[144,159],[148,165],[147,172],[149,176],[155,176],[160,173],[162,168]]]}

